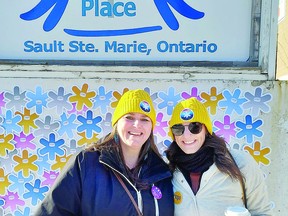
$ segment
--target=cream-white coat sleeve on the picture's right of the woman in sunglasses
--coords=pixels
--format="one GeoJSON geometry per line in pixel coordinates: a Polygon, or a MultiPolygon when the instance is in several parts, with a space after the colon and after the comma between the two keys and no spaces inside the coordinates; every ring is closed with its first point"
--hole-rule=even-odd
{"type": "Polygon", "coordinates": [[[250,154],[241,153],[243,153],[241,159],[235,159],[244,175],[248,210],[252,216],[273,215],[262,170],[250,154]]]}

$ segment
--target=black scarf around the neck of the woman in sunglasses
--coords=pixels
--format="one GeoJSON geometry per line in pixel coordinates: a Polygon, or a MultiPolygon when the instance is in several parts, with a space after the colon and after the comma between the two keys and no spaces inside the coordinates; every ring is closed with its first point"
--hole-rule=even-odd
{"type": "Polygon", "coordinates": [[[186,154],[176,144],[174,163],[185,172],[203,173],[214,163],[214,149],[208,146],[202,146],[193,154],[186,154]]]}

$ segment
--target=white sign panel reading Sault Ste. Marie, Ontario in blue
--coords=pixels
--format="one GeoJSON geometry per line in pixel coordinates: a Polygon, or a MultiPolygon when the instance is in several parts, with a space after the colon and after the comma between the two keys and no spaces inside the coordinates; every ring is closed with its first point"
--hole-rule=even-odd
{"type": "Polygon", "coordinates": [[[0,0],[0,59],[246,61],[252,0],[0,0]]]}

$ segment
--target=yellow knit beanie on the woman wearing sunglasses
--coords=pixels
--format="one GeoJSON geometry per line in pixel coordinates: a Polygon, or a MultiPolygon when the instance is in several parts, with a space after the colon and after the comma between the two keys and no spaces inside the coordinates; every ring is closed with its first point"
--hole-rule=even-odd
{"type": "Polygon", "coordinates": [[[200,122],[206,126],[208,132],[212,135],[212,121],[208,111],[204,104],[196,98],[183,100],[174,107],[169,127],[184,122],[200,122]]]}

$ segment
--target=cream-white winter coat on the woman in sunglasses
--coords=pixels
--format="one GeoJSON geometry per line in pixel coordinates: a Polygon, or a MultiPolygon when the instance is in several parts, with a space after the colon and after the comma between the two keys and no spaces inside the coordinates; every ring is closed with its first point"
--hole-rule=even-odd
{"type": "MultiPolygon", "coordinates": [[[[245,177],[247,206],[251,215],[272,215],[264,175],[256,161],[244,151],[231,150],[245,177]]],[[[213,164],[203,173],[196,195],[179,169],[173,176],[174,215],[224,216],[228,206],[244,206],[240,181],[232,180],[213,164]]]]}

